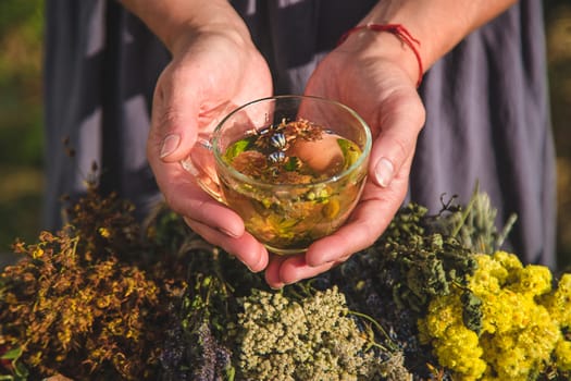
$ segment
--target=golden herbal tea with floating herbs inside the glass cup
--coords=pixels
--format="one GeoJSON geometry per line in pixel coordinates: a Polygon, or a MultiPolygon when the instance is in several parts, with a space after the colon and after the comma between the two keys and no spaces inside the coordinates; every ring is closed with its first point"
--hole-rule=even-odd
{"type": "Polygon", "coordinates": [[[301,251],[337,230],[352,210],[367,170],[338,175],[361,153],[356,143],[323,126],[283,120],[227,147],[223,160],[255,182],[221,176],[221,186],[259,241],[278,254],[301,251]]]}

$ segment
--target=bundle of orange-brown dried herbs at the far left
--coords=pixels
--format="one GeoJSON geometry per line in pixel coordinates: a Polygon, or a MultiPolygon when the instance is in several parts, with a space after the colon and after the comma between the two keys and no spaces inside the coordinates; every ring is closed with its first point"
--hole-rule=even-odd
{"type": "Polygon", "coordinates": [[[144,248],[131,211],[90,187],[70,209],[73,225],[44,232],[36,244],[16,242],[23,258],[0,275],[0,352],[20,356],[0,374],[152,374],[170,295],[125,261],[144,248]]]}

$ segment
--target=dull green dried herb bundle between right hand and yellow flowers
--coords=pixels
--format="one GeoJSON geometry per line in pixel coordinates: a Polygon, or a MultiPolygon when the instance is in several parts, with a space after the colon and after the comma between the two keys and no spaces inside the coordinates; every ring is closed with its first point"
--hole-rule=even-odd
{"type": "MultiPolygon", "coordinates": [[[[405,354],[406,365],[418,377],[435,372],[437,359],[418,340],[417,321],[429,303],[466,285],[476,269],[470,242],[491,242],[496,236],[494,211],[473,209],[483,197],[477,190],[468,208],[443,201],[437,216],[417,204],[405,206],[383,236],[370,248],[330,272],[328,282],[342,285],[350,307],[373,317],[384,327],[387,345],[394,343],[405,354]],[[474,200],[475,199],[475,200],[474,200]],[[477,223],[487,226],[479,229],[477,223]],[[457,232],[462,236],[457,237],[457,232]],[[429,365],[429,366],[427,366],[429,365]]],[[[489,206],[489,205],[488,205],[489,206]]],[[[463,319],[477,329],[482,311],[470,292],[463,297],[463,319]]],[[[442,371],[443,374],[447,372],[442,371]]]]}

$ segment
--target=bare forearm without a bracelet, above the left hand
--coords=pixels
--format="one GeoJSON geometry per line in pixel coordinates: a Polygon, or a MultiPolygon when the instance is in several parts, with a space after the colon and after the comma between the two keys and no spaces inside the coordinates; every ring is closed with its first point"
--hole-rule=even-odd
{"type": "Polygon", "coordinates": [[[187,38],[200,33],[224,33],[236,40],[249,32],[227,0],[120,0],[166,46],[176,52],[187,38]]]}

